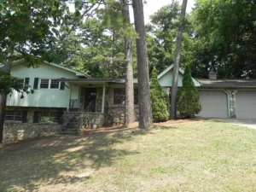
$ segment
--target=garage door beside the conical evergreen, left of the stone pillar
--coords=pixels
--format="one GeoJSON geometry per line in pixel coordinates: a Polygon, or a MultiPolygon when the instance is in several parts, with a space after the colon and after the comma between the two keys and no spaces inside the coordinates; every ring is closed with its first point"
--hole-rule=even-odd
{"type": "Polygon", "coordinates": [[[227,118],[228,97],[222,90],[200,90],[200,117],[227,118]]]}

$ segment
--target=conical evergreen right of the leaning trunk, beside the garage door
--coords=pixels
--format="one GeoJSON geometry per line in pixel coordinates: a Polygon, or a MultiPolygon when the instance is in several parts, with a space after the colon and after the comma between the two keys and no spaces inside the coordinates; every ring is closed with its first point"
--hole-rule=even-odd
{"type": "Polygon", "coordinates": [[[199,93],[187,66],[183,74],[183,86],[177,91],[177,110],[182,118],[191,118],[201,111],[199,93]]]}

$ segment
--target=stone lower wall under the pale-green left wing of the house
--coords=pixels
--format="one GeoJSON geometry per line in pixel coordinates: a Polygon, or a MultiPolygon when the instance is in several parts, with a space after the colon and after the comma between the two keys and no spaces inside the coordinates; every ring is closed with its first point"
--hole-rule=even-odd
{"type": "Polygon", "coordinates": [[[53,136],[60,133],[61,125],[57,123],[33,123],[33,111],[28,111],[27,122],[4,121],[3,142],[9,143],[33,137],[53,136]]]}

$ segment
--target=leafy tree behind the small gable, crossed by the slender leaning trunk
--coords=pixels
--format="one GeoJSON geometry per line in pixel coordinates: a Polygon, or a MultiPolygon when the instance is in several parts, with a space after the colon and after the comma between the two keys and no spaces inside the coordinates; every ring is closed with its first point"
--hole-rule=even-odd
{"type": "MultiPolygon", "coordinates": [[[[162,72],[174,62],[180,11],[179,3],[172,1],[150,16],[150,23],[146,27],[149,72],[154,67],[162,72]]],[[[195,29],[190,20],[191,16],[186,15],[180,67],[183,67],[182,63],[194,61],[195,29]]]]}

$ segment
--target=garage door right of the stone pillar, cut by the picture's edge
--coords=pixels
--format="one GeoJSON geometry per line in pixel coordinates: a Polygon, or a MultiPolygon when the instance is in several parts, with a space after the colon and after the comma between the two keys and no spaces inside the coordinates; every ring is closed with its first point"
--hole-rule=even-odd
{"type": "Polygon", "coordinates": [[[236,118],[256,119],[256,91],[238,91],[236,118]]]}

